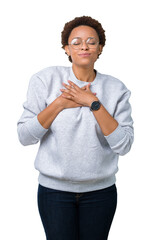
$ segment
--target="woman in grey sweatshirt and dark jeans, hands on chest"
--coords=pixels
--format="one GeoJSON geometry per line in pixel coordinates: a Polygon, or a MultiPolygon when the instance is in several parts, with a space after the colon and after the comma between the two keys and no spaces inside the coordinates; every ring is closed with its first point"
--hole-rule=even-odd
{"type": "Polygon", "coordinates": [[[133,142],[130,91],[94,69],[105,45],[97,20],[66,23],[62,45],[72,67],[32,76],[19,140],[40,141],[35,168],[47,240],[106,240],[117,204],[118,158],[133,142]]]}

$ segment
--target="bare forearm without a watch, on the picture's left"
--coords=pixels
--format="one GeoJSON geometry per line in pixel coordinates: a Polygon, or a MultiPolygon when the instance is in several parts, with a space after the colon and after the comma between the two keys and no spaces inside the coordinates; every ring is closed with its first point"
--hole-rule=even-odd
{"type": "Polygon", "coordinates": [[[44,128],[48,129],[62,110],[63,108],[59,100],[56,98],[47,108],[38,114],[38,121],[44,128]]]}

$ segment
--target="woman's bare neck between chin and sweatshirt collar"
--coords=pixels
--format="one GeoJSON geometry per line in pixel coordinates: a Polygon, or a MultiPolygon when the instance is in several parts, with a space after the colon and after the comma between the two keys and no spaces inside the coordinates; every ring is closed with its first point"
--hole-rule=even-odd
{"type": "Polygon", "coordinates": [[[89,68],[77,67],[72,65],[73,72],[77,79],[84,82],[93,82],[95,79],[95,71],[93,66],[89,68]]]}

